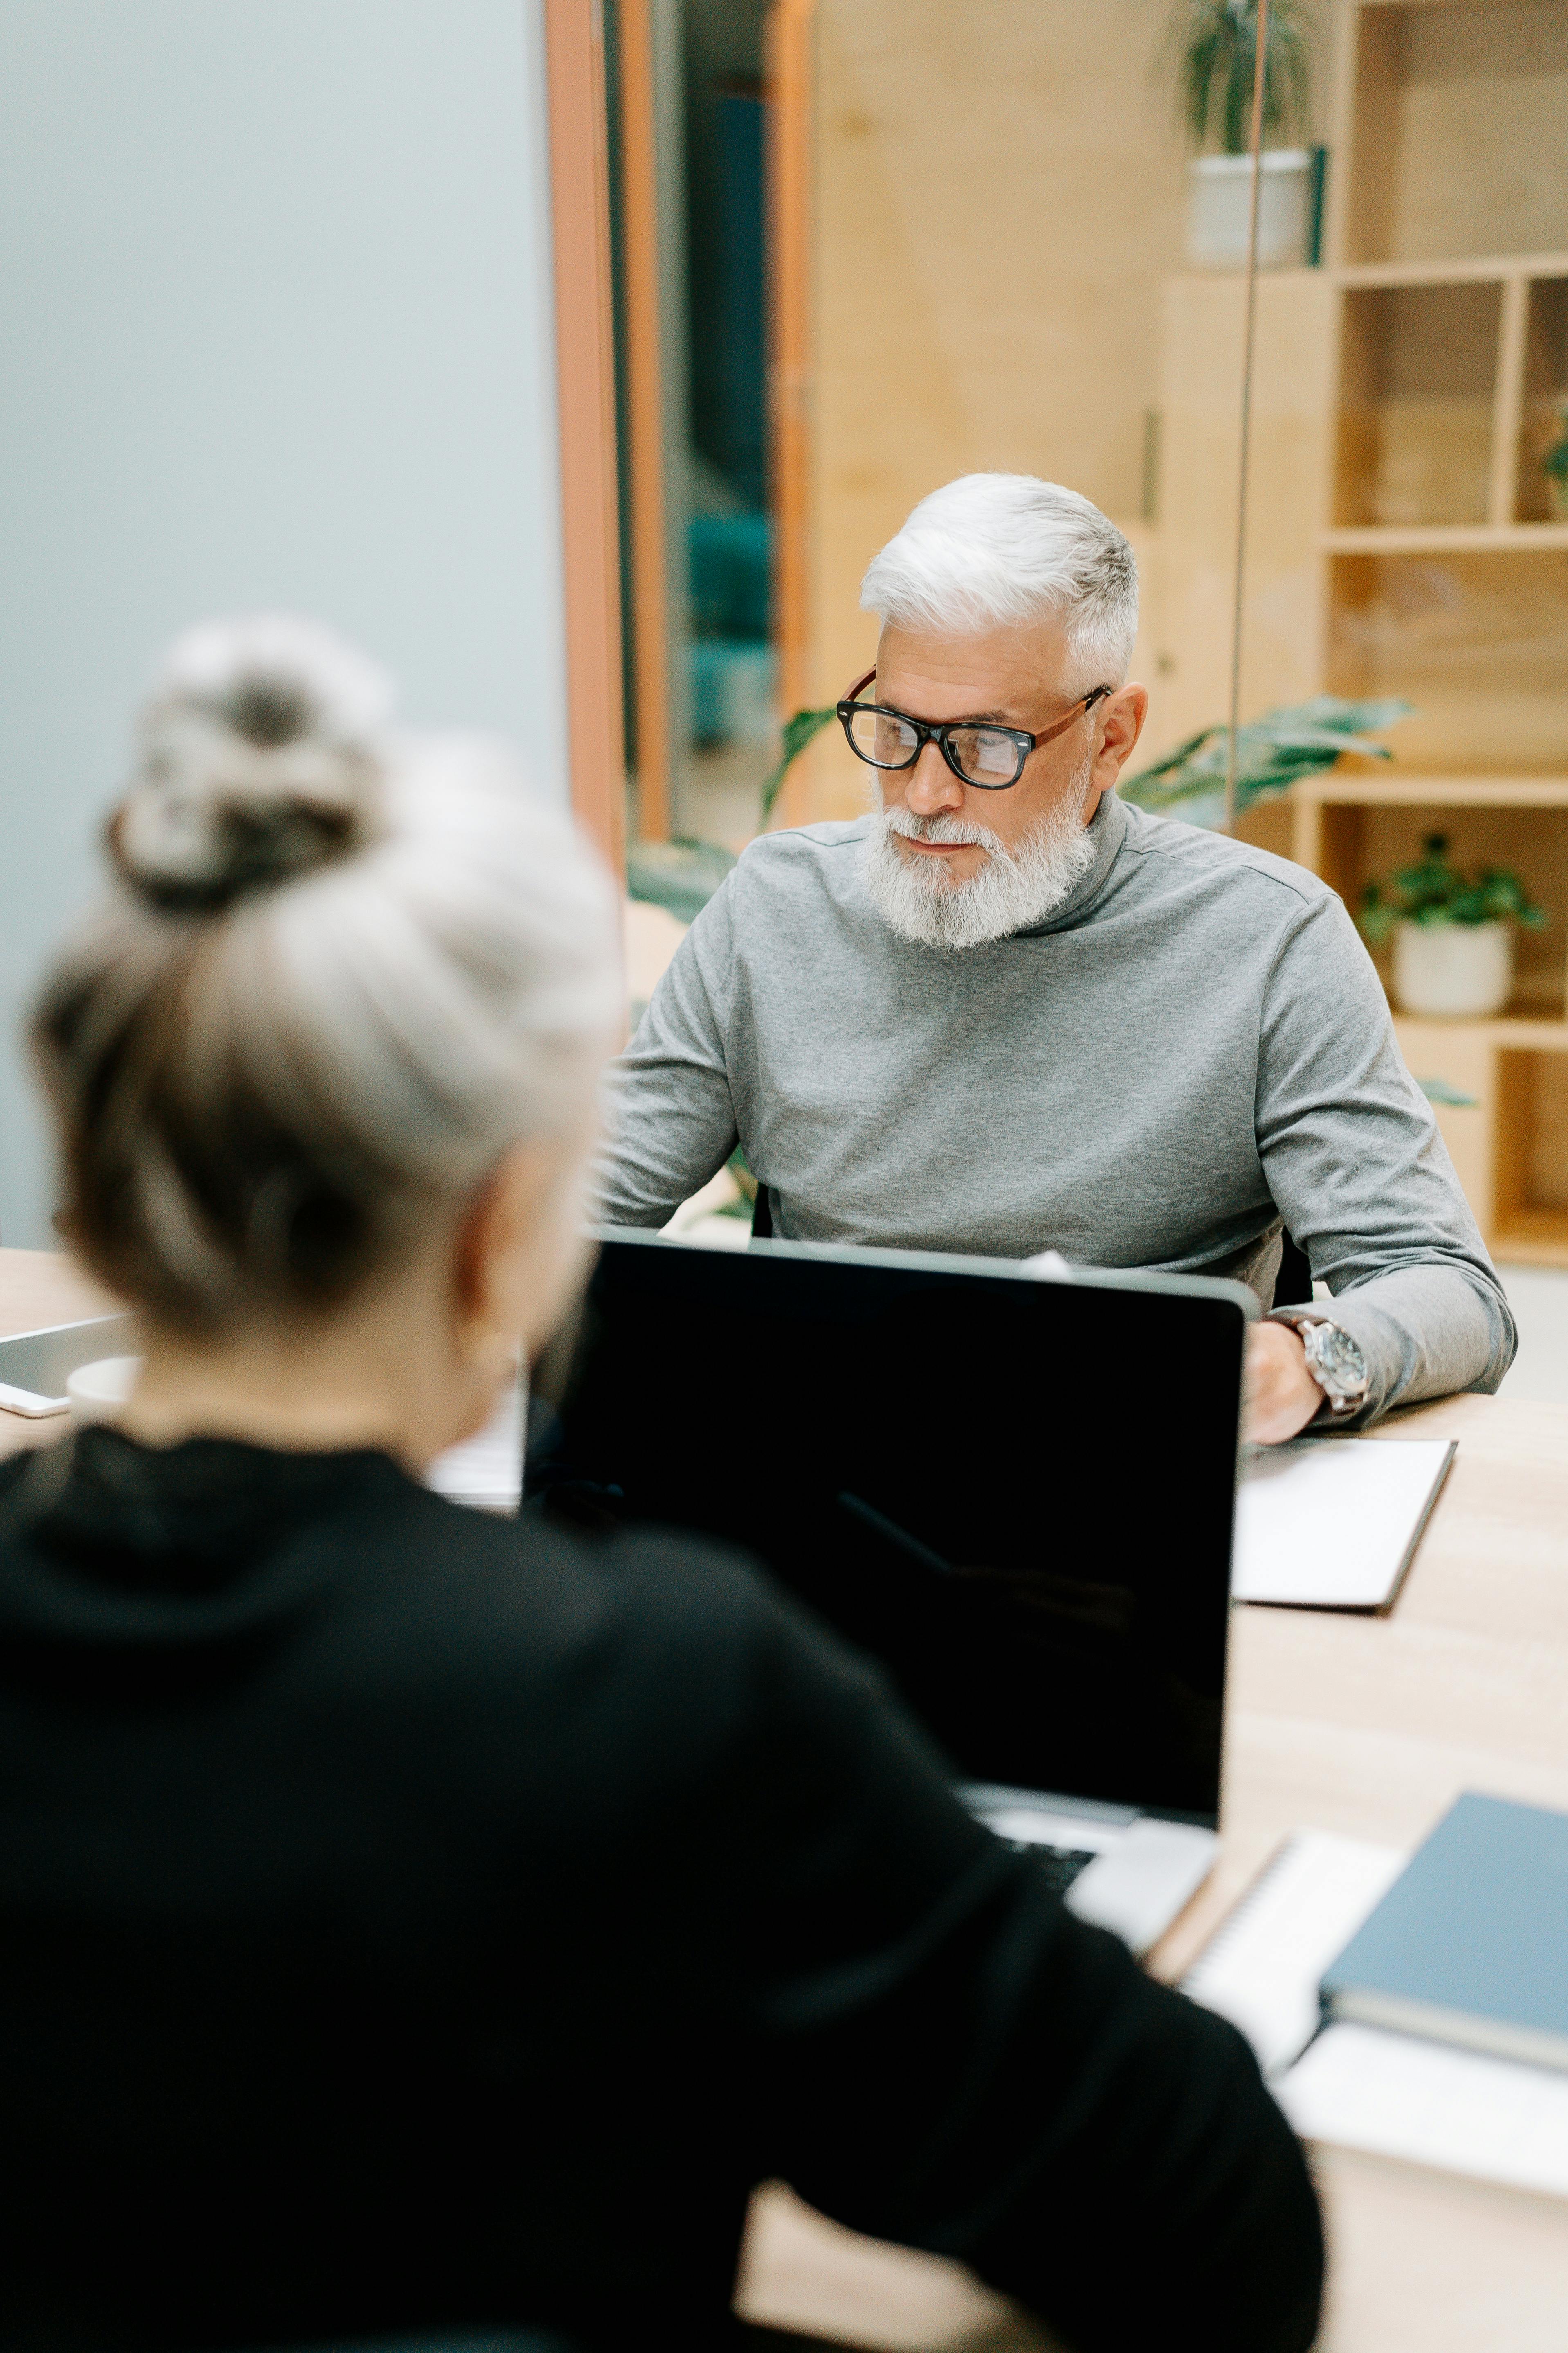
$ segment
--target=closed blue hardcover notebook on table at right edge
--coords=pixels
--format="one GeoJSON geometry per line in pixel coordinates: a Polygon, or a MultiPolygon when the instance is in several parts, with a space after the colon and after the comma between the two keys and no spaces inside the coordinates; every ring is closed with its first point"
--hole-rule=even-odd
{"type": "Polygon", "coordinates": [[[1324,1972],[1324,2017],[1568,2071],[1568,1814],[1467,1791],[1324,1972]]]}

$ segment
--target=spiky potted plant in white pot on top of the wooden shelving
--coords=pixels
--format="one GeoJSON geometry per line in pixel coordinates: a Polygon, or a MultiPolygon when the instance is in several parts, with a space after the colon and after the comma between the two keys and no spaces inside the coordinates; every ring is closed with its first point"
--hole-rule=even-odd
{"type": "MultiPolygon", "coordinates": [[[[1305,129],[1312,101],[1312,35],[1300,0],[1269,0],[1262,64],[1262,134],[1305,129]]],[[[1187,259],[1201,268],[1246,261],[1253,202],[1253,80],[1258,0],[1178,0],[1171,19],[1187,165],[1187,259]],[[1218,139],[1220,153],[1206,153],[1218,139]]],[[[1272,148],[1260,158],[1258,261],[1305,261],[1316,242],[1321,148],[1272,148]]]]}

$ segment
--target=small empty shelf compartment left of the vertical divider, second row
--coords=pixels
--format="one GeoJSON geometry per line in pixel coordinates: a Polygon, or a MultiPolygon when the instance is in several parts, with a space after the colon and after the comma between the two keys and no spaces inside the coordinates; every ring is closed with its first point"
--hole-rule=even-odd
{"type": "Polygon", "coordinates": [[[1488,520],[1502,285],[1352,287],[1338,525],[1488,520]]]}

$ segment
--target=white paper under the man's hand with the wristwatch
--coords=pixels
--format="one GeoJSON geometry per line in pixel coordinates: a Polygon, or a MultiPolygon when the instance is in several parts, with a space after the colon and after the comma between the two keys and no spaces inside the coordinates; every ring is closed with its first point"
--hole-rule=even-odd
{"type": "Polygon", "coordinates": [[[1380,1609],[1453,1459],[1443,1438],[1298,1438],[1241,1466],[1239,1602],[1380,1609]]]}

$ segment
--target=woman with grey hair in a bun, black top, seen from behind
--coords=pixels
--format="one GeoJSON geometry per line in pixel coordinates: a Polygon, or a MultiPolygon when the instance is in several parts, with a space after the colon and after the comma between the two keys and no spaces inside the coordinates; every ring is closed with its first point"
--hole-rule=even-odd
{"type": "Polygon", "coordinates": [[[0,1471],[0,2346],[724,2344],[769,2177],[1084,2348],[1307,2346],[1246,2047],[865,1664],[418,1482],[585,1266],[569,826],[252,621],[174,647],[106,845],[35,1049],[146,1369],[0,1471]]]}

